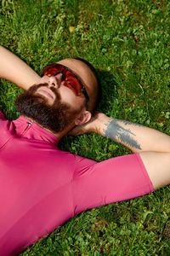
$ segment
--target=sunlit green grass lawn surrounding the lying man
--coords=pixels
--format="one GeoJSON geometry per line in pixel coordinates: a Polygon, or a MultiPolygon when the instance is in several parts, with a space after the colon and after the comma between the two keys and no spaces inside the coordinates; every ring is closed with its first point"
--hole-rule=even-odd
{"type": "MultiPolygon", "coordinates": [[[[3,0],[0,44],[37,73],[65,57],[97,68],[99,111],[170,134],[170,2],[168,0],[3,0]]],[[[0,81],[0,108],[19,113],[22,91],[0,81]]],[[[129,154],[96,134],[66,137],[59,147],[93,160],[129,154]]],[[[161,170],[160,170],[161,172],[161,170]]],[[[170,255],[170,187],[82,212],[21,255],[170,255]]]]}

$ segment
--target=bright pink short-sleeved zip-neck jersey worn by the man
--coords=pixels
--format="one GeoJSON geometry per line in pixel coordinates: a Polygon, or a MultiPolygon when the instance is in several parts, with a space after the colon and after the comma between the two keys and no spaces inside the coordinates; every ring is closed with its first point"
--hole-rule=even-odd
{"type": "Polygon", "coordinates": [[[64,152],[49,131],[0,112],[0,255],[14,255],[78,212],[153,191],[139,154],[103,162],[64,152]]]}

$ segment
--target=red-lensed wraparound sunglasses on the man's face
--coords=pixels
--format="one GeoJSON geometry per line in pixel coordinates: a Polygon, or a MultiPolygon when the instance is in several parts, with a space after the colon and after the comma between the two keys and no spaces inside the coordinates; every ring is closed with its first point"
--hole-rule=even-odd
{"type": "Polygon", "coordinates": [[[88,93],[84,84],[82,84],[81,79],[70,68],[58,63],[54,63],[43,67],[40,75],[41,77],[44,75],[56,76],[59,73],[62,73],[61,81],[64,82],[62,84],[70,88],[76,96],[80,96],[83,93],[86,98],[86,109],[88,110],[88,93]]]}

